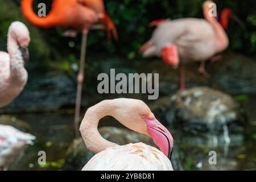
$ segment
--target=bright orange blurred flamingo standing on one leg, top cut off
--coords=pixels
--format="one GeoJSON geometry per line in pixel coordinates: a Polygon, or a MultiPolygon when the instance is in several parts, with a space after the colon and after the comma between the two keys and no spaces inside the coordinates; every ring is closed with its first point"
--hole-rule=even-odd
{"type": "Polygon", "coordinates": [[[22,0],[22,12],[29,22],[40,27],[70,26],[75,30],[64,33],[65,36],[75,36],[77,30],[82,30],[82,46],[80,57],[80,69],[77,76],[77,99],[75,113],[76,135],[79,136],[79,115],[81,106],[82,83],[84,81],[84,63],[86,53],[86,42],[89,29],[98,29],[96,23],[101,23],[108,32],[108,39],[112,35],[118,39],[114,23],[104,9],[103,0],[53,0],[52,9],[46,17],[39,17],[32,9],[33,0],[22,0]]]}

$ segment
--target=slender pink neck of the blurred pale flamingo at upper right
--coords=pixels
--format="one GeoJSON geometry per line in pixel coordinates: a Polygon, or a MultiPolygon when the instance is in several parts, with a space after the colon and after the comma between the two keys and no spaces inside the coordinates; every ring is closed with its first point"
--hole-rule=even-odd
{"type": "Polygon", "coordinates": [[[205,19],[211,24],[213,27],[213,30],[216,33],[216,51],[221,52],[224,51],[224,49],[228,48],[229,45],[229,39],[228,36],[226,35],[226,32],[224,29],[221,27],[221,24],[218,23],[216,18],[214,16],[209,15],[209,5],[208,3],[204,5],[204,17],[205,19]]]}

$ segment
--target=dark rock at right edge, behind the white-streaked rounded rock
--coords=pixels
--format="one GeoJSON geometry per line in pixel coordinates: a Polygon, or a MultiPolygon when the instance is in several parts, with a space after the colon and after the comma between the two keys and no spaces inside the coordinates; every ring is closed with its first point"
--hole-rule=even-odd
{"type": "Polygon", "coordinates": [[[211,80],[214,88],[229,94],[256,93],[256,63],[249,57],[229,53],[213,64],[211,80]]]}

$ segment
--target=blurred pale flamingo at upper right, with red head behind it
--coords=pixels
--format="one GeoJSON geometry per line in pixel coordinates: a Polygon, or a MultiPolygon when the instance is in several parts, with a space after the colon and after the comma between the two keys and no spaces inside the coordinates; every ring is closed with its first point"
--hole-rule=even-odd
{"type": "Polygon", "coordinates": [[[205,61],[228,48],[229,39],[224,28],[228,28],[229,18],[239,20],[231,10],[225,9],[219,23],[216,17],[209,15],[211,3],[206,1],[203,5],[205,19],[162,19],[151,22],[150,26],[158,27],[152,38],[139,50],[143,57],[160,56],[169,65],[181,64],[181,90],[185,89],[185,64],[201,61],[199,72],[208,77],[205,61]]]}

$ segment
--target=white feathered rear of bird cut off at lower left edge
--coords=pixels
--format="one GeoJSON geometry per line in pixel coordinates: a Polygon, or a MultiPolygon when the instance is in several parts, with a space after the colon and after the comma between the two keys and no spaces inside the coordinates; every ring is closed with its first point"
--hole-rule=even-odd
{"type": "Polygon", "coordinates": [[[28,144],[33,144],[35,137],[23,133],[12,126],[0,125],[0,171],[9,166],[28,144]]]}

